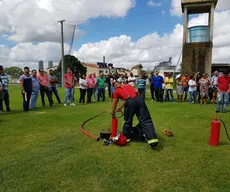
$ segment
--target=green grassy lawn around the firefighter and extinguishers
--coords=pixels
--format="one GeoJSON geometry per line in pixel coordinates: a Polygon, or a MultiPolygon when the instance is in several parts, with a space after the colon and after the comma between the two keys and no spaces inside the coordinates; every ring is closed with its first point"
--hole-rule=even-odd
{"type": "MultiPolygon", "coordinates": [[[[111,107],[108,99],[42,108],[39,98],[37,111],[23,113],[18,87],[10,87],[10,97],[12,112],[0,114],[0,191],[230,191],[230,142],[223,127],[220,146],[208,145],[214,105],[147,101],[160,138],[152,150],[146,143],[106,147],[81,133],[84,120],[111,107]],[[165,137],[165,128],[175,136],[165,137]]],[[[229,114],[218,117],[230,131],[229,114]]],[[[109,111],[85,128],[98,135],[110,124],[109,111]]]]}

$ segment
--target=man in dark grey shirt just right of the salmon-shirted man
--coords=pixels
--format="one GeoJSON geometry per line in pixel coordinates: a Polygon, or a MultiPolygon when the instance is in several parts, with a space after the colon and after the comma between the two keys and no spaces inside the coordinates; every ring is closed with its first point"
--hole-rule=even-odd
{"type": "Polygon", "coordinates": [[[57,101],[58,101],[58,104],[61,104],[61,99],[58,95],[58,91],[57,91],[57,83],[58,83],[58,78],[56,75],[53,74],[53,70],[50,69],[49,70],[49,90],[50,90],[50,97],[51,97],[51,100],[52,100],[52,103],[53,102],[53,98],[52,98],[52,95],[54,93],[57,101]]]}

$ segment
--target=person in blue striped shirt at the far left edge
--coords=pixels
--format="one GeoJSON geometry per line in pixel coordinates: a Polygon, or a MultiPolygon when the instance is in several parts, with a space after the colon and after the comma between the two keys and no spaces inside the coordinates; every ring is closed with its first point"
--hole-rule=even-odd
{"type": "Polygon", "coordinates": [[[8,92],[8,75],[4,72],[4,68],[0,66],[0,79],[3,87],[3,98],[0,99],[0,111],[3,111],[3,100],[6,106],[6,111],[10,111],[10,98],[8,92]]]}

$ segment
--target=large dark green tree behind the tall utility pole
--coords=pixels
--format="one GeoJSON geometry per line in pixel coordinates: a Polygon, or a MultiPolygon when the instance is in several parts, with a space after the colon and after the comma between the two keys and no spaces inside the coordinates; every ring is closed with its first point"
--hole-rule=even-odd
{"type": "MultiPolygon", "coordinates": [[[[86,74],[86,67],[84,67],[81,62],[73,55],[64,56],[64,73],[66,73],[67,68],[70,67],[76,78],[79,78],[81,74],[86,74]]],[[[61,80],[61,61],[59,62],[58,68],[54,70],[54,74],[61,80]]]]}

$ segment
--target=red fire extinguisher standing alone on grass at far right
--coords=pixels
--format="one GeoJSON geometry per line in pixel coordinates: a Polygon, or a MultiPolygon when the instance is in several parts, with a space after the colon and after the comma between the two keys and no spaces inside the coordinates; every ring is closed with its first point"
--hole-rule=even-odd
{"type": "Polygon", "coordinates": [[[211,145],[211,146],[219,145],[220,126],[221,126],[221,122],[217,118],[212,120],[211,133],[210,133],[210,138],[209,138],[209,145],[211,145]]]}

